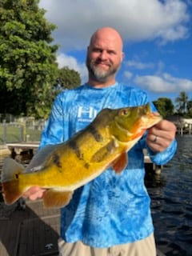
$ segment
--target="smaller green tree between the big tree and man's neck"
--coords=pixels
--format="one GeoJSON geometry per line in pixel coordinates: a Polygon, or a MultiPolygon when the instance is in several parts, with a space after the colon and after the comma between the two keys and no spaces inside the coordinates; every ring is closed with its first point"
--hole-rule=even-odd
{"type": "Polygon", "coordinates": [[[58,70],[58,84],[66,89],[73,89],[80,86],[80,74],[78,74],[78,71],[70,70],[67,66],[64,66],[58,70]]]}

